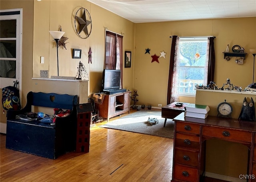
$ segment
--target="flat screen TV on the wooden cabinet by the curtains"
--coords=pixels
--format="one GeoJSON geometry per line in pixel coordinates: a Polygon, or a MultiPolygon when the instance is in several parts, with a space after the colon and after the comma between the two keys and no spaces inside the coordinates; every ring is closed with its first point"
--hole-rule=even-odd
{"type": "Polygon", "coordinates": [[[118,90],[120,88],[120,74],[121,70],[103,70],[102,76],[102,90],[118,90]]]}

